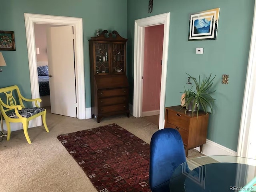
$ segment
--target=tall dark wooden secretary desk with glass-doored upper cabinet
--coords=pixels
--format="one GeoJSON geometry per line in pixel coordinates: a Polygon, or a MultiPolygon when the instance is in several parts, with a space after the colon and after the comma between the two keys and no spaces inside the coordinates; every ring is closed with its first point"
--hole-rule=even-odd
{"type": "Polygon", "coordinates": [[[92,118],[126,114],[129,84],[126,76],[126,42],[118,32],[102,31],[89,40],[92,118]]]}

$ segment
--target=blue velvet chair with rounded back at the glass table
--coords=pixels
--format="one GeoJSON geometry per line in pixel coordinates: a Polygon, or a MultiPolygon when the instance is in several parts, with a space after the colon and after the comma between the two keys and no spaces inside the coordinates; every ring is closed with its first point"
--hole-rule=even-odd
{"type": "Polygon", "coordinates": [[[174,170],[186,161],[180,133],[173,128],[155,132],[150,142],[149,183],[152,192],[170,192],[174,170]]]}

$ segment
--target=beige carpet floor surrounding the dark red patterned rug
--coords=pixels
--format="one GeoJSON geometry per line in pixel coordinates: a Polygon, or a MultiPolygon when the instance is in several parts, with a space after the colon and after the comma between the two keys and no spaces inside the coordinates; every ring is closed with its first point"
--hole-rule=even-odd
{"type": "MultiPolygon", "coordinates": [[[[158,126],[126,115],[78,120],[51,114],[47,133],[43,126],[30,128],[28,144],[23,130],[14,131],[10,141],[0,142],[0,192],[96,192],[86,174],[56,138],[60,134],[116,123],[147,143],[158,126]]],[[[189,150],[188,158],[201,156],[189,150]]]]}

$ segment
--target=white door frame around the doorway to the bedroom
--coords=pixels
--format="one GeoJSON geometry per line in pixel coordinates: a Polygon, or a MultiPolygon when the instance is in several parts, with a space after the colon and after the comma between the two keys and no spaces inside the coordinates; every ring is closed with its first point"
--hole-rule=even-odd
{"type": "MultiPolygon", "coordinates": [[[[41,14],[24,13],[26,38],[28,45],[28,64],[30,71],[30,84],[32,98],[39,98],[38,76],[36,67],[36,46],[34,35],[34,24],[54,24],[74,26],[74,58],[76,71],[76,99],[77,118],[85,119],[85,87],[84,87],[84,47],[82,18],[72,18],[63,16],[50,16],[41,14]]],[[[42,121],[37,118],[33,126],[41,126],[42,121]]]]}

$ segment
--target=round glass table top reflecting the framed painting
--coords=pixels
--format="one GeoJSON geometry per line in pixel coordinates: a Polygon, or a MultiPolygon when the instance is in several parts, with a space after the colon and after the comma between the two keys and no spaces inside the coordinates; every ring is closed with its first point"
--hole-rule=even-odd
{"type": "Polygon", "coordinates": [[[202,156],[178,166],[170,192],[254,192],[256,160],[237,156],[202,156]]]}

